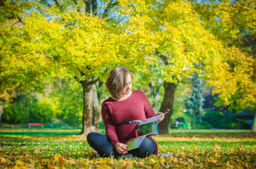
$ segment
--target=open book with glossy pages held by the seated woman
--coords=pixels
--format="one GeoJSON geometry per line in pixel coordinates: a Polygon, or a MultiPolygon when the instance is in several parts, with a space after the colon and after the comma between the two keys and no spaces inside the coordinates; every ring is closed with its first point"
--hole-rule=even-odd
{"type": "MultiPolygon", "coordinates": [[[[166,112],[166,113],[168,113],[168,112],[166,112]]],[[[163,113],[163,114],[165,114],[165,113],[163,113]]],[[[163,114],[156,115],[151,118],[147,118],[147,119],[141,121],[141,123],[139,123],[139,125],[137,127],[137,132],[138,132],[139,137],[129,139],[129,141],[126,143],[128,151],[132,150],[132,149],[139,148],[139,145],[141,144],[141,142],[143,141],[143,139],[145,137],[158,134],[158,129],[157,129],[158,120],[163,114]]]]}

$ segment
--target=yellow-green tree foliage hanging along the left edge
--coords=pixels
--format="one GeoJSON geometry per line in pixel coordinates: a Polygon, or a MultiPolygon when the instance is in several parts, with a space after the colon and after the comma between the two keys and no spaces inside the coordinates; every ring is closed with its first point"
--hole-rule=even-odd
{"type": "Polygon", "coordinates": [[[37,53],[40,46],[31,46],[35,37],[23,29],[22,17],[32,6],[29,1],[0,2],[0,120],[4,104],[16,96],[16,90],[37,84],[43,88],[42,81],[47,80],[48,62],[37,53]]]}

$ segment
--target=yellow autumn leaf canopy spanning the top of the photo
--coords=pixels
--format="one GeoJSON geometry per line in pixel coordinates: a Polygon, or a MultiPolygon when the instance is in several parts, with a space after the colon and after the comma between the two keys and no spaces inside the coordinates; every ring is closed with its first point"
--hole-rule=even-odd
{"type": "Polygon", "coordinates": [[[151,62],[163,60],[161,74],[166,82],[177,84],[196,70],[193,63],[200,62],[205,71],[201,76],[220,94],[221,104],[236,101],[240,109],[255,107],[254,60],[223,43],[227,36],[234,40],[243,33],[234,28],[240,25],[233,20],[236,12],[241,13],[238,19],[248,20],[243,23],[248,29],[255,29],[255,8],[248,0],[236,2],[244,8],[242,12],[230,2],[216,4],[218,8],[197,4],[200,10],[195,11],[192,3],[182,0],[120,0],[120,23],[61,3],[62,10],[29,1],[8,1],[1,7],[1,98],[7,97],[9,89],[33,89],[54,77],[99,77],[104,81],[107,71],[117,65],[134,73],[149,73],[151,62]],[[32,6],[44,12],[25,14],[32,6]],[[201,14],[207,10],[221,19],[216,25],[211,24],[216,20],[211,15],[209,23],[202,22],[201,14]],[[12,11],[23,14],[22,23],[17,23],[17,17],[4,18],[12,11]],[[215,36],[217,29],[208,26],[221,27],[220,37],[215,36]]]}

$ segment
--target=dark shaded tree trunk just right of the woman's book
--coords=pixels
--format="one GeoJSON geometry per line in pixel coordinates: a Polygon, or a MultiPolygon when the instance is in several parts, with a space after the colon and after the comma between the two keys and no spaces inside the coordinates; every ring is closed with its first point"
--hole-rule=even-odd
{"type": "Polygon", "coordinates": [[[163,102],[161,104],[160,112],[169,112],[165,114],[164,120],[158,125],[159,134],[169,134],[169,123],[170,116],[173,113],[173,102],[174,102],[174,94],[178,84],[165,82],[163,84],[165,89],[165,94],[163,96],[163,102]]]}

